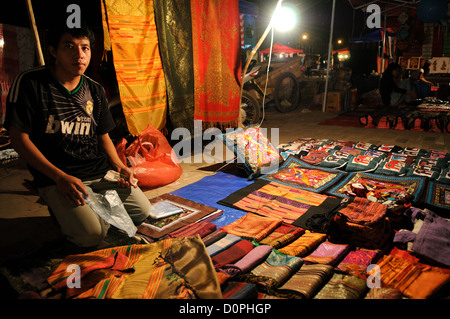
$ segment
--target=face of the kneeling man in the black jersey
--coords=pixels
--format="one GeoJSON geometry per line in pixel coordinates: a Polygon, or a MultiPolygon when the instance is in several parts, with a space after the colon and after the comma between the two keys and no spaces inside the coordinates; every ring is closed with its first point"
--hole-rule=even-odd
{"type": "Polygon", "coordinates": [[[67,76],[82,75],[91,61],[91,45],[88,38],[74,38],[65,33],[59,41],[58,48],[52,50],[55,66],[67,76]]]}

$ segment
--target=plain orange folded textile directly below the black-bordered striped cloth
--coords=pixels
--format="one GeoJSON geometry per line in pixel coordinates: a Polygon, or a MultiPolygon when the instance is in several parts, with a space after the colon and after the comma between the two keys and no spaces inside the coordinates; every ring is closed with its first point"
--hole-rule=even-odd
{"type": "Polygon", "coordinates": [[[233,223],[222,227],[221,230],[236,236],[260,241],[280,226],[281,222],[281,219],[247,213],[233,223]]]}

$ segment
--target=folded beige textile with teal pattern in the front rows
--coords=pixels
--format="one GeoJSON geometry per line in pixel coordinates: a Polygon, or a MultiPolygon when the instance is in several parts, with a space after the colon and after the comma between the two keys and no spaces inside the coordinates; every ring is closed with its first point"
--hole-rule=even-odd
{"type": "Polygon", "coordinates": [[[257,283],[264,292],[275,294],[277,287],[295,273],[303,264],[300,257],[272,250],[267,259],[250,273],[236,277],[238,281],[257,283]]]}

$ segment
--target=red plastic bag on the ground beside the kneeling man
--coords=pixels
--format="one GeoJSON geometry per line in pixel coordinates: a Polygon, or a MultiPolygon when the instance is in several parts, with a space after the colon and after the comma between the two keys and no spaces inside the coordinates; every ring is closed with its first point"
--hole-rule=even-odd
{"type": "Polygon", "coordinates": [[[139,186],[159,187],[180,178],[183,169],[164,135],[152,125],[126,147],[123,138],[116,145],[123,163],[133,170],[139,186]]]}

